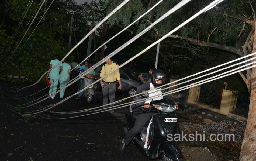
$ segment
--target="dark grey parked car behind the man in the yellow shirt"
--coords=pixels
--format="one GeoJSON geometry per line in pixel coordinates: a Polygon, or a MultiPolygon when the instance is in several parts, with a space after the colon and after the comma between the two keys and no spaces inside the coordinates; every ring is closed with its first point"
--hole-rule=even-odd
{"type": "MultiPolygon", "coordinates": [[[[101,74],[101,68],[97,67],[95,69],[95,74],[97,79],[101,74]]],[[[119,69],[120,78],[122,82],[122,90],[121,92],[125,92],[128,96],[133,96],[136,93],[137,88],[142,84],[142,82],[137,79],[129,70],[120,68],[119,69]]],[[[119,87],[119,83],[117,82],[117,88],[119,87]]],[[[100,83],[98,83],[98,89],[101,88],[100,83]]]]}

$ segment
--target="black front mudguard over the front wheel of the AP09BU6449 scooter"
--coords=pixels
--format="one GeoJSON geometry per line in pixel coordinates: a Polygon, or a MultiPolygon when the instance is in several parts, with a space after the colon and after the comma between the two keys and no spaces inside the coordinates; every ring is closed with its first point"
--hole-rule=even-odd
{"type": "Polygon", "coordinates": [[[159,153],[162,153],[175,161],[184,161],[184,155],[176,142],[165,141],[162,145],[160,145],[159,153]]]}

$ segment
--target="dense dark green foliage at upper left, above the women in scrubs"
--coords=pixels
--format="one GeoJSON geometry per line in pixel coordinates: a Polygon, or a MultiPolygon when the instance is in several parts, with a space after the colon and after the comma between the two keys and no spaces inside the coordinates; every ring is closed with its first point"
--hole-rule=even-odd
{"type": "MultiPolygon", "coordinates": [[[[0,26],[1,66],[12,55],[9,61],[4,64],[4,67],[0,69],[1,79],[6,79],[8,75],[17,75],[26,77],[22,81],[35,82],[49,69],[50,61],[55,54],[59,54],[60,59],[62,59],[68,53],[68,36],[73,34],[70,33],[72,15],[74,16],[73,30],[75,30],[79,41],[90,30],[88,21],[97,23],[105,14],[105,9],[101,7],[103,5],[101,1],[100,3],[93,1],[90,4],[85,2],[77,5],[74,0],[55,0],[45,15],[45,21],[42,20],[40,22],[29,38],[29,35],[44,14],[43,6],[25,38],[15,50],[20,38],[23,37],[27,30],[28,26],[26,25],[40,3],[40,1],[33,1],[17,31],[17,35],[12,41],[16,27],[25,12],[28,2],[29,0],[8,0],[0,4],[0,8],[8,11],[8,14],[0,15],[0,20],[3,20],[1,21],[3,24],[0,26]],[[26,40],[28,42],[25,44],[26,40]],[[22,48],[23,45],[24,47],[22,48]]],[[[47,2],[47,8],[49,5],[50,1],[47,2]]],[[[96,35],[96,39],[99,39],[99,35],[96,35]]],[[[75,43],[74,37],[72,37],[71,47],[72,43],[75,43]]],[[[76,55],[74,52],[71,53],[70,60],[73,61],[76,55]]],[[[45,82],[44,79],[41,81],[45,82]]]]}

